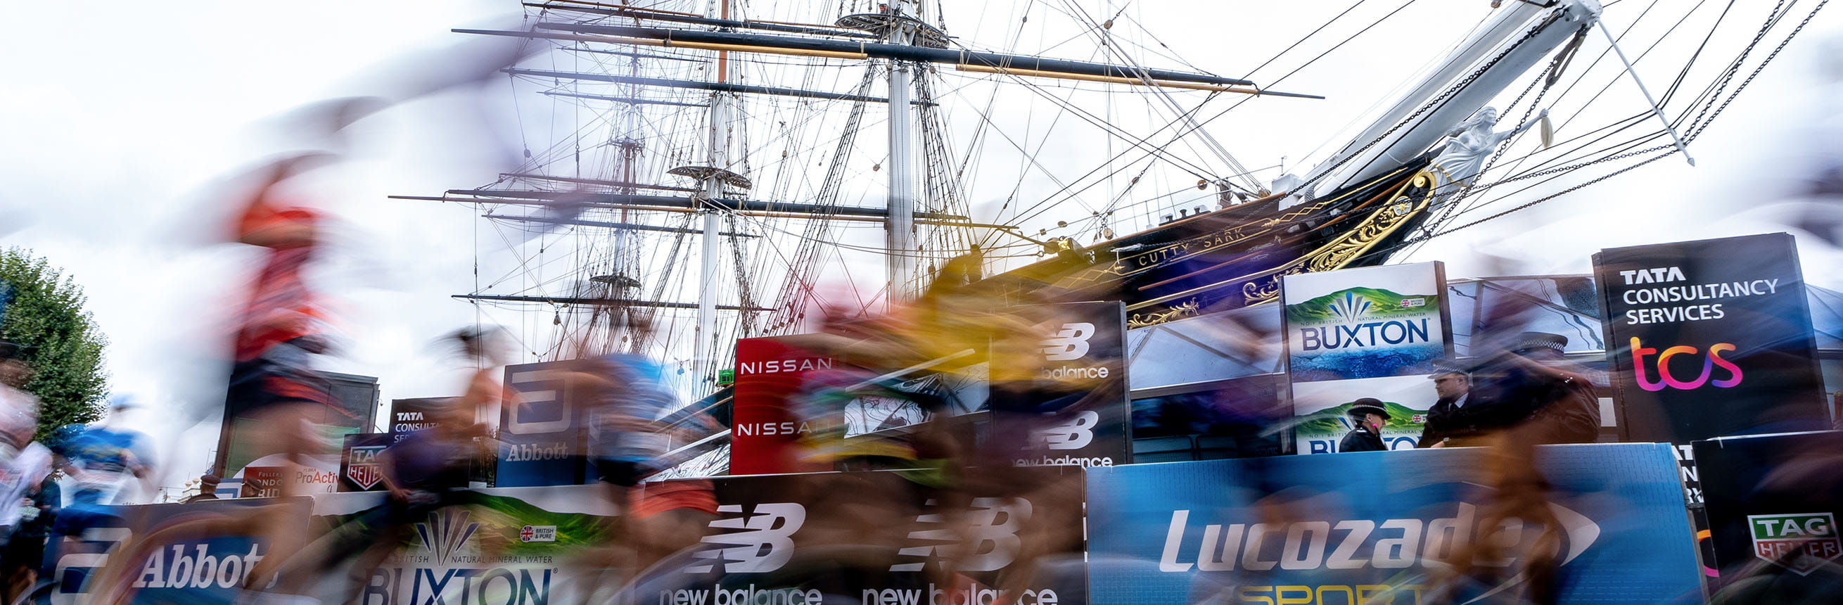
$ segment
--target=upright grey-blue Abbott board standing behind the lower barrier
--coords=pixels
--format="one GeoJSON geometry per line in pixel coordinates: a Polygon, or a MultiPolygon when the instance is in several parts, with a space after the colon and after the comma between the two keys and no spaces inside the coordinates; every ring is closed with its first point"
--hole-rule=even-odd
{"type": "MultiPolygon", "coordinates": [[[[516,400],[499,409],[499,487],[581,485],[586,409],[577,409],[564,374],[571,362],[505,367],[505,386],[516,400]]],[[[393,415],[394,417],[394,415],[393,415]]]]}

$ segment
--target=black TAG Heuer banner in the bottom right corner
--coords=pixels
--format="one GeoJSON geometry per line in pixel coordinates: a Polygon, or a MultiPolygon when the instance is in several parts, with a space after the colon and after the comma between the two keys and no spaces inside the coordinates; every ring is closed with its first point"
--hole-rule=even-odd
{"type": "Polygon", "coordinates": [[[1836,588],[1843,572],[1836,452],[1843,452],[1843,432],[1696,443],[1721,596],[1780,603],[1836,588]]]}

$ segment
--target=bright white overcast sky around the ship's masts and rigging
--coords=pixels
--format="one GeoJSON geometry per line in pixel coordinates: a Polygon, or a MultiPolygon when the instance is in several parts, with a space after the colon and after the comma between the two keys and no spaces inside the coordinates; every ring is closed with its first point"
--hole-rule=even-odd
{"type": "MultiPolygon", "coordinates": [[[[1078,4],[1095,15],[1128,15],[1157,41],[1124,26],[1121,35],[1163,42],[1196,68],[1227,76],[1246,74],[1347,6],[1165,2],[1117,13],[1117,2],[1078,4]]],[[[776,4],[756,6],[765,18],[774,17],[776,4]]],[[[1635,6],[1614,4],[1609,24],[1629,20],[1626,11],[1635,6]]],[[[1371,17],[1353,18],[1349,31],[1393,7],[1366,7],[1371,17]]],[[[1001,7],[984,2],[947,2],[947,11],[955,35],[982,48],[1008,44],[1015,15],[1001,17],[1001,7]]],[[[1334,53],[1277,87],[1332,100],[1259,100],[1209,131],[1250,168],[1283,155],[1297,164],[1314,149],[1342,144],[1334,135],[1344,125],[1485,11],[1485,0],[1419,2],[1391,20],[1399,42],[1334,53]]],[[[241,297],[243,275],[258,256],[214,243],[225,221],[225,179],[264,157],[311,146],[289,138],[273,116],[374,92],[367,87],[376,81],[363,74],[376,66],[453,44],[459,35],[450,28],[516,15],[514,2],[459,0],[118,4],[81,15],[52,2],[0,7],[0,22],[11,26],[0,37],[0,55],[11,59],[0,83],[0,245],[48,256],[88,291],[88,308],[111,339],[111,386],[155,404],[136,426],[157,433],[173,461],[162,485],[179,485],[208,465],[205,443],[216,443],[221,386],[214,380],[221,369],[206,360],[223,350],[223,312],[241,297]]],[[[1825,41],[1837,37],[1839,22],[1836,9],[1814,20],[1812,31],[1697,140],[1697,168],[1666,159],[1515,219],[1436,240],[1401,260],[1447,260],[1450,277],[1471,277],[1495,271],[1480,255],[1487,253],[1515,258],[1509,269],[1517,273],[1585,273],[1589,255],[1602,247],[1788,231],[1773,205],[1797,201],[1795,179],[1808,168],[1815,133],[1837,133],[1832,100],[1843,89],[1817,59],[1837,48],[1825,41]]],[[[1731,33],[1745,37],[1755,26],[1731,33]]],[[[1327,31],[1327,39],[1349,31],[1327,31]]],[[[1021,50],[1071,59],[1093,53],[1087,41],[1051,42],[1067,39],[1062,33],[1032,33],[1021,50]]],[[[1268,83],[1316,55],[1312,48],[1297,53],[1255,79],[1268,83]]],[[[1156,57],[1146,65],[1180,66],[1156,57]]],[[[1649,74],[1653,89],[1666,76],[1649,74]]],[[[1596,103],[1627,113],[1644,103],[1626,81],[1609,90],[1596,103]]],[[[511,107],[511,100],[494,103],[511,107]]],[[[313,199],[341,221],[341,255],[323,267],[321,280],[341,293],[346,352],[326,367],[380,376],[385,402],[459,387],[457,369],[428,343],[477,317],[472,306],[448,299],[472,290],[477,221],[455,207],[385,196],[492,181],[509,151],[494,149],[481,127],[466,124],[474,111],[459,96],[393,107],[354,129],[354,162],[311,183],[313,199]]],[[[1093,164],[1091,155],[1069,148],[1069,164],[1093,164]]],[[[992,199],[979,194],[975,207],[992,199]]],[[[1814,238],[1801,238],[1801,247],[1808,279],[1836,286],[1837,253],[1814,238]]]]}

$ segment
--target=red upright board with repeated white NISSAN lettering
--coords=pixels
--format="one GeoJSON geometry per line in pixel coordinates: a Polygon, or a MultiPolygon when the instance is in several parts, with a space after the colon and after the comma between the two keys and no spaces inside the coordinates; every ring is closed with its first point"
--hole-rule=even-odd
{"type": "Polygon", "coordinates": [[[730,474],[831,470],[829,465],[802,463],[796,456],[802,422],[789,409],[789,398],[800,393],[809,373],[828,371],[835,362],[796,347],[794,339],[735,341],[730,474]]]}

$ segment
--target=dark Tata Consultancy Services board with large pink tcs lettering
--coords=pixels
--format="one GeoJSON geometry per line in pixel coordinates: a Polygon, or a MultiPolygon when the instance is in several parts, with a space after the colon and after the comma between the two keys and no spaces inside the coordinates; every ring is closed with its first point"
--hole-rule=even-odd
{"type": "Polygon", "coordinates": [[[1607,249],[1594,279],[1627,439],[1826,428],[1790,234],[1607,249]]]}

